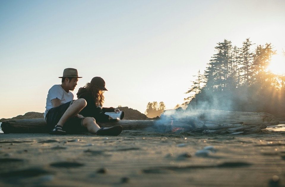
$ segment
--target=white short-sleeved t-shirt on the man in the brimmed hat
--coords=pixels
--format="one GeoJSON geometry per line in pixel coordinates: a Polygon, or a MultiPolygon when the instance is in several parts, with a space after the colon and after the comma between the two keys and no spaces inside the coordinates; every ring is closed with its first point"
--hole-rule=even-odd
{"type": "Polygon", "coordinates": [[[53,108],[53,104],[51,102],[52,99],[60,99],[61,104],[67,103],[73,100],[73,93],[68,91],[68,93],[61,87],[60,84],[53,85],[47,93],[47,102],[45,106],[45,114],[44,117],[47,115],[48,110],[53,108]]]}

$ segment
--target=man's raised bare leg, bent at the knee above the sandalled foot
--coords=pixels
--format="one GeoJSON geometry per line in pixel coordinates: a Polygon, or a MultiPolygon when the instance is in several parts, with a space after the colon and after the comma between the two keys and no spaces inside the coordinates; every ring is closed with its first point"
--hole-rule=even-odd
{"type": "Polygon", "coordinates": [[[61,116],[60,120],[58,121],[57,125],[63,126],[64,123],[74,116],[76,116],[84,107],[86,107],[87,102],[85,99],[77,99],[75,100],[72,105],[70,105],[64,114],[61,116]]]}

